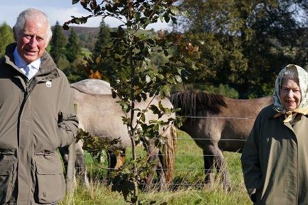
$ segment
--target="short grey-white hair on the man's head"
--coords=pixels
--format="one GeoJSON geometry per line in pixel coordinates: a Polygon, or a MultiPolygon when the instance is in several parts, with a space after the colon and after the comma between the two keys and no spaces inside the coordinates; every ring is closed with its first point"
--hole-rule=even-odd
{"type": "Polygon", "coordinates": [[[14,32],[16,38],[21,37],[21,31],[23,31],[25,22],[27,20],[44,20],[47,23],[47,43],[49,42],[49,40],[51,40],[51,36],[53,35],[53,33],[51,31],[51,25],[49,23],[48,16],[44,12],[41,12],[40,10],[36,10],[34,8],[24,10],[17,17],[16,23],[14,25],[14,32]]]}

